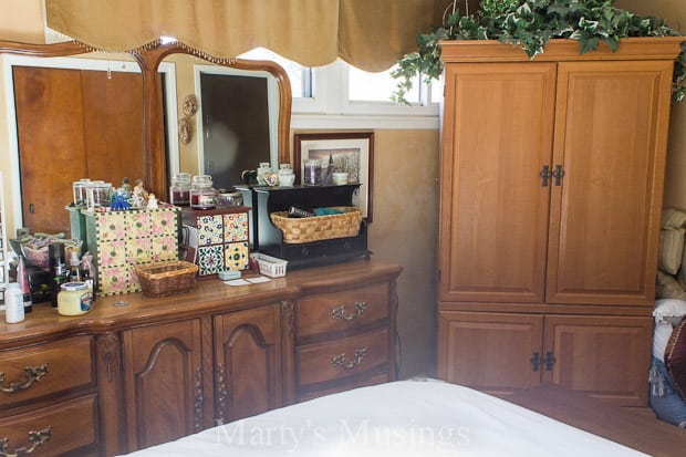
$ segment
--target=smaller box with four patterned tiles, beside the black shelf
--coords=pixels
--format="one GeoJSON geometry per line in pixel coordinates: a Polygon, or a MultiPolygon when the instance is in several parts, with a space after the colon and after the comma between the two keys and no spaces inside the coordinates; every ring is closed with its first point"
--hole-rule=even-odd
{"type": "Polygon", "coordinates": [[[200,278],[241,271],[250,262],[248,207],[183,210],[186,243],[196,249],[200,278]]]}

